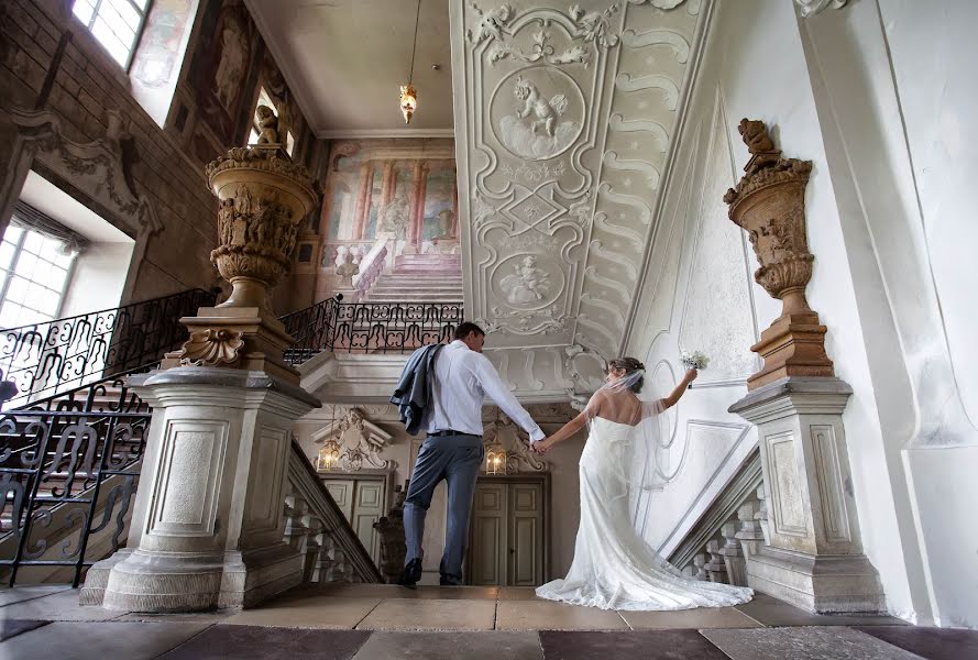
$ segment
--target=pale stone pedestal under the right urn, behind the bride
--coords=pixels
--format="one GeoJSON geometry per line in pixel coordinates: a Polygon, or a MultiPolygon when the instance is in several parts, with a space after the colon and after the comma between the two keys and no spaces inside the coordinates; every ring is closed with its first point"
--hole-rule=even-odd
{"type": "Polygon", "coordinates": [[[838,378],[787,377],[729,411],[757,425],[770,544],[747,562],[748,584],[817,613],[882,612],[879,575],[862,554],[838,378]]]}

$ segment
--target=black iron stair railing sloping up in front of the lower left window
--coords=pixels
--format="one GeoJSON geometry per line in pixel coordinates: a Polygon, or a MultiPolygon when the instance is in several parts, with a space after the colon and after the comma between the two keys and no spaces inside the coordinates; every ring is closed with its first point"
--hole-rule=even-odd
{"type": "Polygon", "coordinates": [[[91,314],[0,331],[0,370],[18,387],[7,408],[156,362],[186,341],[180,317],[216,302],[190,289],[91,314]]]}

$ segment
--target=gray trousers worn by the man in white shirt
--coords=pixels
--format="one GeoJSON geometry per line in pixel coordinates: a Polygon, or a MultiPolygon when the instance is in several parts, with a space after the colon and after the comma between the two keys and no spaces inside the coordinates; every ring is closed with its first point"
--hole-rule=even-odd
{"type": "Polygon", "coordinates": [[[483,459],[482,438],[463,433],[428,436],[421,443],[404,501],[405,563],[420,558],[425,537],[425,514],[431,506],[435,487],[448,482],[448,525],[441,574],[462,579],[462,559],[469,536],[469,514],[475,495],[475,480],[483,459]]]}

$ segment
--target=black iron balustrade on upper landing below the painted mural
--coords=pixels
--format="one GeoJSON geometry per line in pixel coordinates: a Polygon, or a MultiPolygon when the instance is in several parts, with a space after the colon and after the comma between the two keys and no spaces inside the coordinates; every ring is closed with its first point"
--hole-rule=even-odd
{"type": "Polygon", "coordinates": [[[409,353],[428,343],[451,341],[464,320],[461,302],[343,302],[329,298],[282,317],[296,342],[286,351],[301,364],[320,351],[409,353]]]}

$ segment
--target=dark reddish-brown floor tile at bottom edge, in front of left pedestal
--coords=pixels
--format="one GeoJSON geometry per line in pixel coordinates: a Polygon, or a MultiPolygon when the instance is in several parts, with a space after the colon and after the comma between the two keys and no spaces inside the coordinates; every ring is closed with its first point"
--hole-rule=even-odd
{"type": "Polygon", "coordinates": [[[350,660],[370,637],[359,630],[211,626],[160,660],[350,660]]]}

